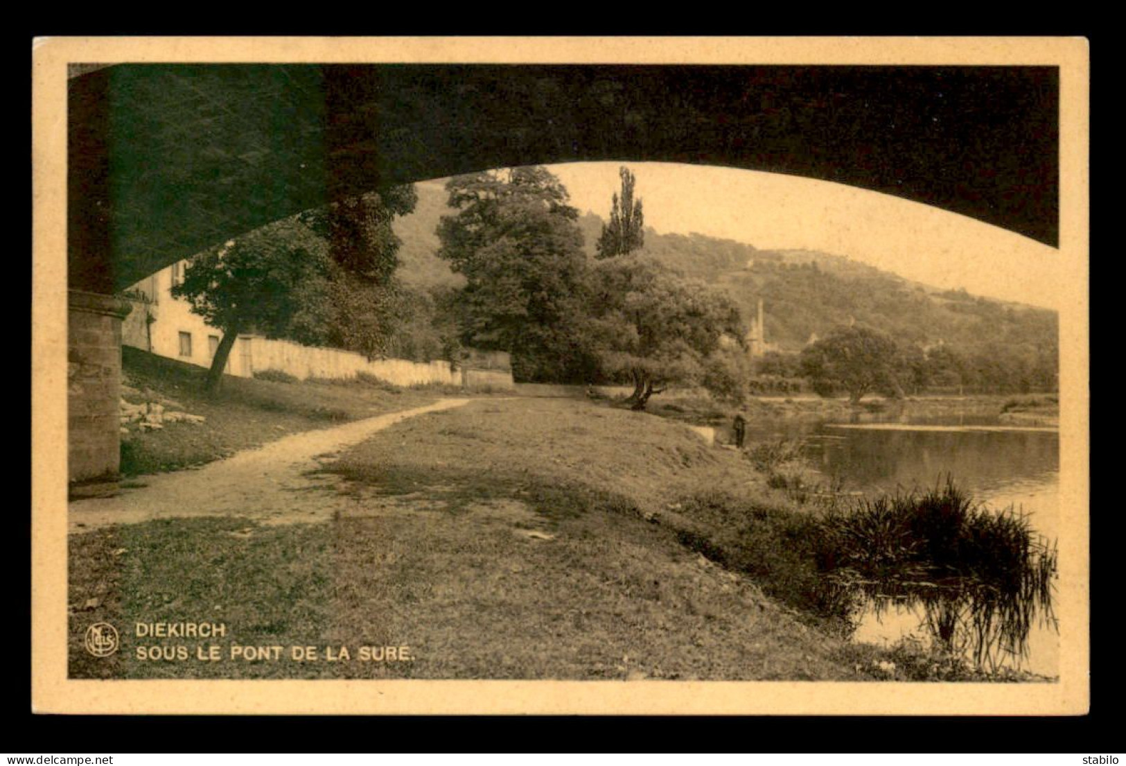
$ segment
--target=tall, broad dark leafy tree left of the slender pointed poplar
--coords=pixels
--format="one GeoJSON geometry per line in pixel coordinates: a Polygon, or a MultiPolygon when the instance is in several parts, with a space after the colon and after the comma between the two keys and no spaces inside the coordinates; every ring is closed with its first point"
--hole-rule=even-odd
{"type": "Polygon", "coordinates": [[[542,167],[452,178],[458,213],[441,219],[438,255],[464,274],[465,342],[512,355],[518,380],[582,380],[593,369],[586,344],[588,268],[578,211],[542,167]]]}

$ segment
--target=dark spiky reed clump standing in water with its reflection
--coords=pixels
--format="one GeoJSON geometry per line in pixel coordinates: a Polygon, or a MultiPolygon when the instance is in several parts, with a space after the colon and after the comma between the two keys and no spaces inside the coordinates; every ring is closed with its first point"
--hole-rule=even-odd
{"type": "Polygon", "coordinates": [[[1012,508],[991,510],[948,478],[923,492],[858,500],[822,520],[817,568],[867,596],[926,608],[931,634],[982,666],[1024,657],[1036,615],[1055,622],[1054,544],[1012,508]]]}

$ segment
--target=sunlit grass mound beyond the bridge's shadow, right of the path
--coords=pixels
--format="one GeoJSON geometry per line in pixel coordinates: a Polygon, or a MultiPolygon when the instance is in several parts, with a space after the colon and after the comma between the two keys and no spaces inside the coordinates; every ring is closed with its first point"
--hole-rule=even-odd
{"type": "Polygon", "coordinates": [[[735,453],[682,425],[579,400],[481,400],[396,426],[346,452],[333,469],[383,488],[470,482],[472,491],[538,481],[663,509],[701,487],[760,481],[735,453]]]}

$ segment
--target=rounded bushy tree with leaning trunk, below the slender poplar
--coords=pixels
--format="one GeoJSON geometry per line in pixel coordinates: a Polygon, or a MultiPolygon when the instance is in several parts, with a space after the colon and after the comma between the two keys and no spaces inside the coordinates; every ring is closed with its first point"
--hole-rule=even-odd
{"type": "Polygon", "coordinates": [[[670,383],[740,398],[745,384],[731,349],[743,337],[739,310],[722,293],[634,255],[593,269],[593,337],[602,369],[628,377],[626,400],[643,410],[670,383]]]}

